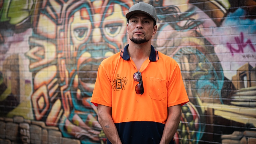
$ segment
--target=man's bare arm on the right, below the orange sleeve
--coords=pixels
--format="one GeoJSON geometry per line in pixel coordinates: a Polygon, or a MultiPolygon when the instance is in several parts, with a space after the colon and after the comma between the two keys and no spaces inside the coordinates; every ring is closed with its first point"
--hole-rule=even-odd
{"type": "Polygon", "coordinates": [[[160,144],[170,143],[181,121],[181,105],[168,107],[168,117],[160,144]]]}

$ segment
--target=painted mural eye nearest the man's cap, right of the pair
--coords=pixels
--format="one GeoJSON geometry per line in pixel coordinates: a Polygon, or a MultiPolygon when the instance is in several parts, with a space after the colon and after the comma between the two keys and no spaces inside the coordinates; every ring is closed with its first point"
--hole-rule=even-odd
{"type": "Polygon", "coordinates": [[[104,31],[110,37],[115,37],[120,33],[123,23],[110,23],[105,25],[104,31]]]}

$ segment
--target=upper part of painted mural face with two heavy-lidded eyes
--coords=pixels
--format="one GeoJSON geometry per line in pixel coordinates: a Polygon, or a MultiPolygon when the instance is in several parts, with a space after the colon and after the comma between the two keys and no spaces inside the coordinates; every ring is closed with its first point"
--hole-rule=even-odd
{"type": "Polygon", "coordinates": [[[91,57],[108,57],[123,48],[126,43],[123,11],[127,8],[117,3],[104,4],[104,1],[82,4],[70,13],[67,36],[71,51],[85,50],[91,57]]]}

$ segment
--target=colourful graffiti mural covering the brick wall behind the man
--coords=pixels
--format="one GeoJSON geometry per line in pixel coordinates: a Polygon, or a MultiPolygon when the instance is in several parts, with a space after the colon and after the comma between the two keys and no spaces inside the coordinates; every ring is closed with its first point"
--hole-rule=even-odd
{"type": "MultiPolygon", "coordinates": [[[[106,143],[90,98],[137,2],[0,0],[0,142],[106,143]]],[[[255,143],[256,2],[145,2],[152,45],[178,62],[190,99],[176,143],[255,143]]]]}

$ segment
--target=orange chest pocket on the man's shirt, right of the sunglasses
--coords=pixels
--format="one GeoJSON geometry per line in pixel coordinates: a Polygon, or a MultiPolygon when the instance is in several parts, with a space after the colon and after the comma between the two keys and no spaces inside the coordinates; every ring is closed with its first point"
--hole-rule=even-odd
{"type": "Polygon", "coordinates": [[[150,77],[149,78],[149,96],[151,99],[163,101],[167,97],[167,80],[150,77]]]}

